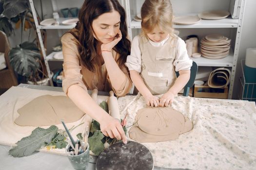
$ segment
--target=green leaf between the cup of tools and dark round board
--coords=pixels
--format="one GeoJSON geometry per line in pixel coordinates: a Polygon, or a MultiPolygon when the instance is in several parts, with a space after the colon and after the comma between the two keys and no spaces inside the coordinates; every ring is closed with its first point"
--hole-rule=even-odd
{"type": "Polygon", "coordinates": [[[101,131],[96,131],[93,136],[88,138],[88,143],[90,146],[90,150],[99,155],[104,150],[104,144],[101,142],[101,139],[105,137],[101,131]]]}

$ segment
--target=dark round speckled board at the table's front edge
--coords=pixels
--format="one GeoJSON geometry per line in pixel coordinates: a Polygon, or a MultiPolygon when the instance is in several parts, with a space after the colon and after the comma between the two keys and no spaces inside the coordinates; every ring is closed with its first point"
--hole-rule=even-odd
{"type": "Polygon", "coordinates": [[[98,156],[96,170],[153,170],[154,159],[144,145],[128,141],[118,142],[98,156]]]}

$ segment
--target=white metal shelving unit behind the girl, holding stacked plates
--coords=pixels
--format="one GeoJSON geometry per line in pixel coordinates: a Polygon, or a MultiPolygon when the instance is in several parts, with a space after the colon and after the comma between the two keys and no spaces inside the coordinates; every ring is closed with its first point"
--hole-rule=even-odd
{"type": "MultiPolygon", "coordinates": [[[[137,22],[132,19],[132,14],[131,12],[134,13],[134,6],[133,5],[140,5],[143,2],[143,0],[125,0],[125,10],[126,10],[126,17],[127,17],[127,26],[128,26],[128,34],[130,37],[133,37],[132,35],[132,30],[133,29],[140,29],[141,25],[140,22],[137,22]],[[131,8],[131,6],[133,8],[131,8]]],[[[172,3],[175,0],[172,0],[172,3]]],[[[241,0],[240,4],[240,13],[239,13],[239,18],[238,19],[232,19],[231,17],[224,18],[224,19],[219,19],[219,20],[204,20],[202,19],[199,23],[193,24],[193,25],[174,25],[174,28],[176,29],[230,29],[230,32],[235,31],[236,36],[232,40],[235,42],[235,45],[233,47],[233,51],[230,51],[230,54],[222,59],[208,59],[204,57],[200,58],[193,58],[193,61],[197,63],[197,65],[200,66],[206,66],[206,67],[229,67],[231,68],[231,78],[230,78],[230,85],[229,85],[229,94],[228,98],[232,99],[232,94],[233,94],[233,87],[234,87],[234,81],[235,81],[235,73],[236,73],[236,65],[237,65],[237,56],[238,56],[238,47],[240,44],[240,34],[241,34],[241,25],[242,25],[242,19],[243,19],[243,14],[244,14],[244,5],[245,5],[246,0],[241,0]]],[[[203,3],[209,3],[210,0],[203,1],[203,3]]],[[[211,1],[212,3],[215,3],[214,0],[211,1]]],[[[224,3],[224,1],[223,1],[224,3]]],[[[180,5],[184,6],[186,5],[186,2],[180,2],[180,5]]],[[[204,6],[204,5],[201,5],[204,6]]],[[[215,9],[216,10],[216,9],[215,9]]],[[[201,10],[200,10],[201,11],[201,10]]],[[[133,14],[135,15],[135,14],[133,14]]],[[[197,15],[197,13],[187,13],[187,14],[182,14],[180,16],[185,16],[185,15],[197,15]]],[[[221,32],[220,32],[221,34],[221,32]]]]}

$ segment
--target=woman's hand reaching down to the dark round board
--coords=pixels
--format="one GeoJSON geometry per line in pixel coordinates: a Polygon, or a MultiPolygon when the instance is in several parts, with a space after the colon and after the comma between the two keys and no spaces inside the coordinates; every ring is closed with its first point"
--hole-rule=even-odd
{"type": "Polygon", "coordinates": [[[107,119],[102,120],[99,124],[103,135],[122,140],[124,144],[127,143],[127,138],[118,119],[108,116],[107,119]]]}

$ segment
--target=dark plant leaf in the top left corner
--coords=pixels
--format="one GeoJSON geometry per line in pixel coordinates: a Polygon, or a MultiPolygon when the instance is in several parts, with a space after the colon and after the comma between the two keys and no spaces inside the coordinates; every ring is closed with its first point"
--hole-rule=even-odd
{"type": "Polygon", "coordinates": [[[3,2],[3,15],[11,19],[18,16],[29,9],[28,0],[4,0],[3,2]]]}

